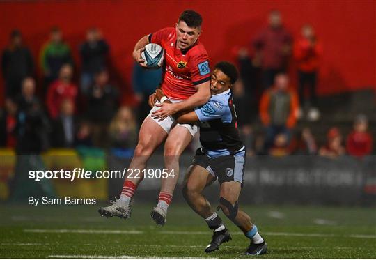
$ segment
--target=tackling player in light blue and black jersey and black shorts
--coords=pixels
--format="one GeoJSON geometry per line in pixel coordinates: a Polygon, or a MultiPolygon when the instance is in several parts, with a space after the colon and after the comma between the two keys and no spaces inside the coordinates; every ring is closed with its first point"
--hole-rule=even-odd
{"type": "MultiPolygon", "coordinates": [[[[212,241],[205,252],[219,249],[221,243],[231,239],[228,229],[203,196],[205,187],[218,179],[220,183],[219,208],[244,235],[250,239],[245,254],[258,255],[267,252],[267,244],[258,234],[255,224],[237,202],[243,185],[245,146],[237,131],[236,113],[231,86],[238,77],[237,69],[226,61],[217,63],[212,72],[210,90],[212,97],[202,107],[192,112],[176,114],[178,123],[200,122],[200,142],[194,160],[185,176],[183,194],[189,206],[207,222],[214,231],[212,241]]],[[[163,98],[157,90],[157,98],[163,98]]]]}

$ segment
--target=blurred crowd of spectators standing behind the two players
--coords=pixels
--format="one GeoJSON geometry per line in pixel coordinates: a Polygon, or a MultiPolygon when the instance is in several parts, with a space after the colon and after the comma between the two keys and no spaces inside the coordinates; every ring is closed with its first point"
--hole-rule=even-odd
{"type": "MultiPolygon", "coordinates": [[[[17,154],[77,146],[132,151],[150,110],[148,96],[158,86],[162,71],[134,65],[132,87],[138,105],[131,108],[121,104],[120,89],[112,83],[110,45],[100,30],[88,29],[75,51],[80,68],[61,29],[52,28],[40,49],[43,79],[36,80],[36,59],[22,42],[22,33],[15,29],[10,34],[1,56],[6,97],[0,109],[1,147],[15,148],[17,154]]],[[[311,24],[304,24],[293,38],[281,13],[272,10],[251,45],[234,47],[234,53],[240,80],[233,86],[233,97],[249,155],[361,158],[372,153],[373,137],[362,114],[354,118],[353,130],[345,138],[340,129],[330,128],[326,144],[319,145],[310,128],[296,128],[299,120],[320,119],[316,85],[322,43],[311,24]],[[297,64],[297,87],[288,73],[292,59],[297,64]],[[254,127],[257,121],[263,129],[260,135],[254,127]]]]}

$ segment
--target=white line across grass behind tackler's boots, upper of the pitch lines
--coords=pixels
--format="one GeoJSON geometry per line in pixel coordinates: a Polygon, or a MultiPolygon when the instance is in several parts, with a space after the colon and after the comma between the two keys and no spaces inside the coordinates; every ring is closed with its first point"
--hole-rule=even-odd
{"type": "MultiPolygon", "coordinates": [[[[78,233],[78,234],[143,234],[138,230],[102,230],[102,229],[24,229],[28,233],[78,233]]],[[[158,234],[175,235],[210,235],[210,231],[159,231],[158,234]]],[[[244,235],[242,232],[231,232],[233,235],[244,235]]],[[[267,236],[306,236],[306,237],[347,237],[347,238],[376,238],[376,235],[366,234],[319,234],[319,233],[288,233],[288,232],[263,232],[267,236]]]]}

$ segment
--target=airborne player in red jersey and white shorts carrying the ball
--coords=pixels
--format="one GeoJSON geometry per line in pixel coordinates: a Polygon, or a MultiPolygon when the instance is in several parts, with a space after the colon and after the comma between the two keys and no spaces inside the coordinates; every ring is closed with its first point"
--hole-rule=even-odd
{"type": "MultiPolygon", "coordinates": [[[[169,174],[162,178],[157,206],[151,216],[157,224],[166,222],[166,213],[173,197],[173,190],[179,176],[179,157],[185,150],[198,128],[192,124],[175,124],[171,116],[178,111],[204,105],[210,99],[210,66],[205,47],[199,43],[202,17],[193,10],[185,10],[175,28],[161,29],[141,38],[134,47],[133,57],[140,66],[146,67],[141,52],[148,43],[157,43],[165,52],[164,73],[161,89],[170,102],[155,103],[155,95],[149,98],[153,106],[139,132],[139,143],[134,150],[130,169],[142,172],[155,149],[164,144],[164,168],[169,174]],[[173,174],[170,174],[173,172],[173,174]]],[[[98,211],[106,217],[130,217],[130,201],[140,178],[125,178],[120,199],[113,205],[98,211]]]]}

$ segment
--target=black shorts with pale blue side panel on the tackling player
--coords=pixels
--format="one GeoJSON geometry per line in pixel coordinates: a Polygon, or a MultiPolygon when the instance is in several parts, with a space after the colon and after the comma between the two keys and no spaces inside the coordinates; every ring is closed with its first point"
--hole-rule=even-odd
{"type": "Polygon", "coordinates": [[[192,165],[200,165],[207,169],[219,183],[237,181],[242,183],[244,178],[245,151],[240,151],[235,155],[219,156],[210,158],[205,155],[201,148],[198,148],[192,165]]]}

